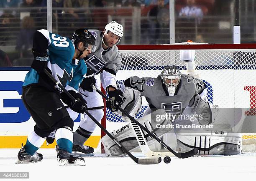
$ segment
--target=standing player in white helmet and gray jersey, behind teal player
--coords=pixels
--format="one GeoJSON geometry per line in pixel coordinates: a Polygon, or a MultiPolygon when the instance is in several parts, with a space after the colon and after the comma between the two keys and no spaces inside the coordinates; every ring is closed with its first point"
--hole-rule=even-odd
{"type": "MultiPolygon", "coordinates": [[[[103,99],[96,91],[89,86],[94,84],[100,89],[100,84],[108,92],[111,102],[107,102],[107,107],[115,112],[122,101],[123,93],[117,89],[116,73],[121,67],[121,55],[116,46],[123,36],[123,27],[119,23],[112,21],[105,26],[105,30],[89,30],[95,37],[95,48],[88,55],[85,62],[88,67],[87,75],[80,84],[79,92],[87,101],[88,111],[98,121],[104,115],[103,99]],[[99,76],[100,75],[100,76],[99,76]],[[95,80],[96,79],[96,80],[95,80]]],[[[77,115],[72,116],[74,119],[77,115]]],[[[84,145],[84,142],[90,137],[95,130],[96,124],[85,115],[80,121],[79,128],[73,133],[74,144],[73,151],[84,154],[93,153],[94,149],[84,145]]],[[[51,135],[54,137],[54,135],[51,135]]]]}

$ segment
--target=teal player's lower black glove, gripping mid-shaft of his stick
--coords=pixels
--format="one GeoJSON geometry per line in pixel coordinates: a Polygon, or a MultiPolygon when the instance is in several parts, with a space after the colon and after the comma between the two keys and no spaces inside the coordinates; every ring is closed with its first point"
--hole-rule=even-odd
{"type": "Polygon", "coordinates": [[[65,92],[61,92],[61,100],[65,104],[70,105],[70,109],[72,109],[74,112],[84,113],[87,109],[86,100],[84,100],[81,94],[75,91],[69,90],[68,92],[76,99],[75,102],[72,102],[65,92]]]}

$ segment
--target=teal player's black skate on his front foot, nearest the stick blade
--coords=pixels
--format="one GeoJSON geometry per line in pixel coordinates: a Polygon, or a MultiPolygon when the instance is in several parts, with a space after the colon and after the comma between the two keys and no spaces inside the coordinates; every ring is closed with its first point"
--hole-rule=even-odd
{"type": "Polygon", "coordinates": [[[60,166],[84,166],[84,158],[60,149],[57,154],[60,166]]]}

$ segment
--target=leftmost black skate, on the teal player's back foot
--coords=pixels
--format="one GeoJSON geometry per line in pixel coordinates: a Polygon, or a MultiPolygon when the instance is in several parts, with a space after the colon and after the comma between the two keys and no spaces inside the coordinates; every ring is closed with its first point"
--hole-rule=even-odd
{"type": "Polygon", "coordinates": [[[37,152],[33,155],[27,154],[23,144],[21,144],[21,149],[18,153],[18,161],[16,164],[29,164],[42,161],[43,155],[38,154],[37,152]]]}

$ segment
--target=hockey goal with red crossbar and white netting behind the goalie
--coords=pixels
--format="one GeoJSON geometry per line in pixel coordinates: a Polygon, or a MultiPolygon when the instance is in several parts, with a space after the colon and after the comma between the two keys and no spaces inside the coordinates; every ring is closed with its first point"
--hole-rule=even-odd
{"type": "MultiPolygon", "coordinates": [[[[207,98],[220,108],[251,108],[246,116],[256,111],[256,44],[202,44],[184,42],[170,45],[119,45],[122,66],[117,73],[117,84],[131,76],[156,77],[164,66],[175,64],[182,73],[192,74],[207,85],[207,98]],[[185,62],[184,52],[194,54],[194,61],[185,62]]],[[[186,53],[185,53],[186,54],[186,53]]],[[[147,105],[143,99],[141,117],[147,105]]],[[[106,111],[102,120],[113,131],[114,123],[122,123],[121,117],[106,111]],[[109,125],[108,125],[109,124],[109,125]]],[[[256,122],[256,120],[255,120],[256,122]]],[[[256,140],[250,126],[242,126],[243,140],[256,140]],[[248,134],[245,134],[248,133],[248,134]]]]}

